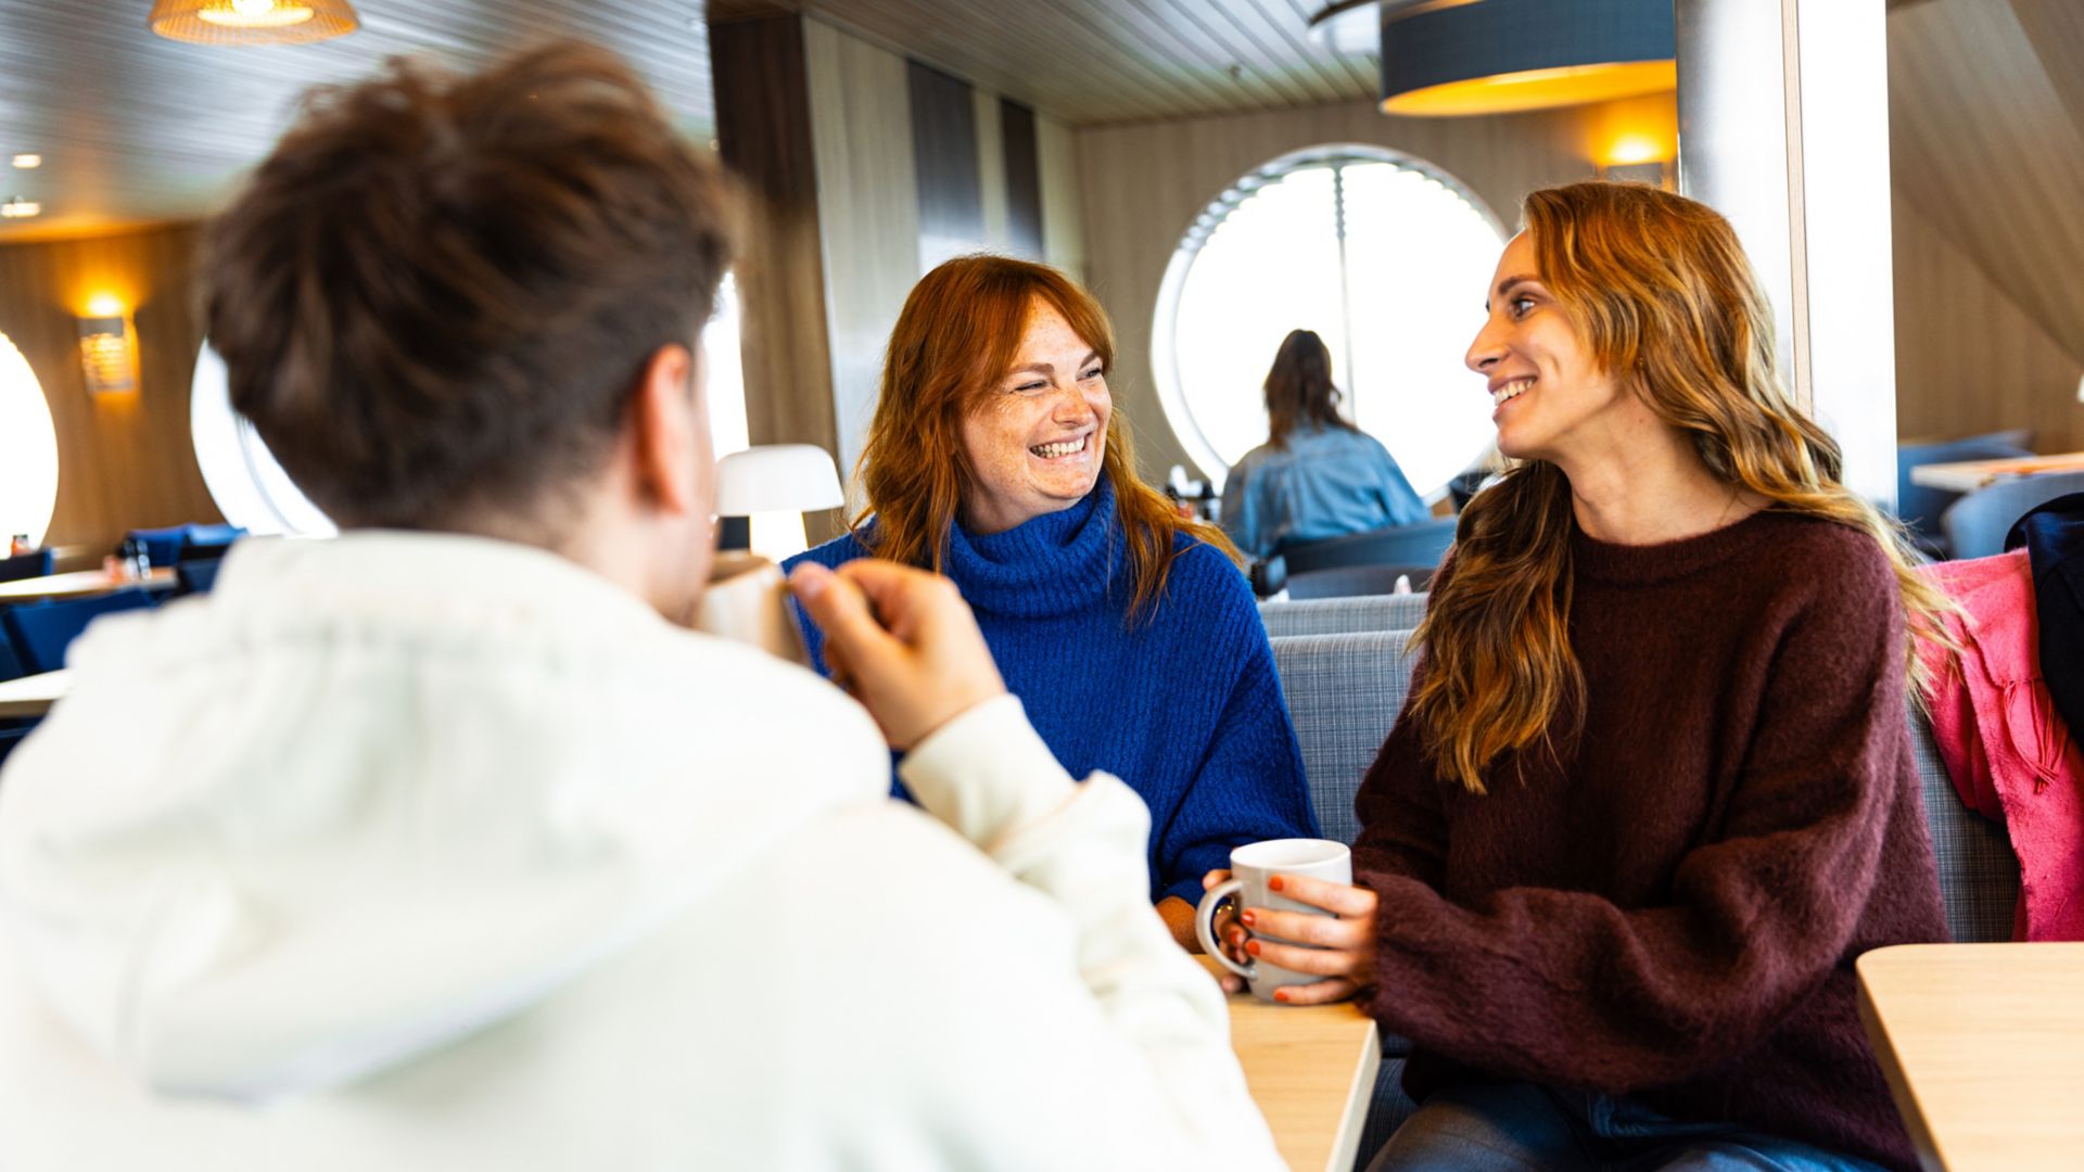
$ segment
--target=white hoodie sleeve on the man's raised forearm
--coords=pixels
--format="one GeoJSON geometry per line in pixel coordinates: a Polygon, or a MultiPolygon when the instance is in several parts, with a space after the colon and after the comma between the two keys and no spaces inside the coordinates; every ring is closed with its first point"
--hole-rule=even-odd
{"type": "Polygon", "coordinates": [[[1150,907],[1142,799],[1100,772],[1075,784],[1015,697],[948,722],[898,774],[927,813],[1069,918],[1080,976],[1115,1034],[1146,1061],[1144,1070],[1090,1070],[1090,1089],[1105,1095],[1111,1078],[1155,1082],[1171,1120],[1150,1126],[1175,1128],[1192,1164],[1284,1168],[1230,1049],[1223,991],[1150,907]]]}

